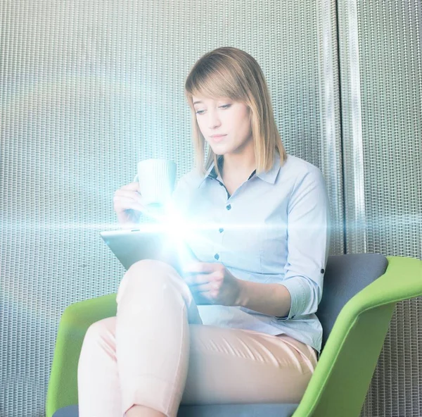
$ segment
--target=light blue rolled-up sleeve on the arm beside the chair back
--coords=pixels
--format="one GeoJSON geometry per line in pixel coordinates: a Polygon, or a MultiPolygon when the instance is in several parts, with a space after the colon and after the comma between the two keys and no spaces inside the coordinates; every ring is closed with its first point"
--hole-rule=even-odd
{"type": "Polygon", "coordinates": [[[288,320],[315,313],[322,297],[331,235],[330,205],[321,171],[314,167],[293,187],[287,211],[288,256],[284,285],[291,297],[288,320]]]}

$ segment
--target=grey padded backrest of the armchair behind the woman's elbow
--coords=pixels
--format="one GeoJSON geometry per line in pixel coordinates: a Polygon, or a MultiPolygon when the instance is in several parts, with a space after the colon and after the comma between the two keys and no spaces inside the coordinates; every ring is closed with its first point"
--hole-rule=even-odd
{"type": "Polygon", "coordinates": [[[388,261],[381,254],[328,256],[324,289],[316,312],[323,328],[323,348],[343,306],[364,287],[381,277],[387,266],[388,261]]]}

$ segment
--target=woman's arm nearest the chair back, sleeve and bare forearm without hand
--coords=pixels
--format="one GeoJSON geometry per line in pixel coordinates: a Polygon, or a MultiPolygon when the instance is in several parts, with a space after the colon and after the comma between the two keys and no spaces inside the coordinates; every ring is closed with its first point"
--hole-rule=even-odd
{"type": "Polygon", "coordinates": [[[314,167],[298,180],[288,202],[288,256],[280,283],[242,281],[238,305],[287,320],[315,313],[322,296],[330,244],[324,177],[314,167]]]}

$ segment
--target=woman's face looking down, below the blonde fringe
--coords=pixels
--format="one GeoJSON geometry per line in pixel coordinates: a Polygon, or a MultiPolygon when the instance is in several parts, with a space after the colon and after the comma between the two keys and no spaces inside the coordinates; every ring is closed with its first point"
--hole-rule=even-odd
{"type": "Polygon", "coordinates": [[[192,99],[200,132],[215,154],[240,154],[252,146],[248,106],[226,98],[192,99]]]}

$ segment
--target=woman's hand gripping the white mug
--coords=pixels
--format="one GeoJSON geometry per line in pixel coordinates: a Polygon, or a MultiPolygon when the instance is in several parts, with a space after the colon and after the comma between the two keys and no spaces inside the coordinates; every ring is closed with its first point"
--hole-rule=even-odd
{"type": "Polygon", "coordinates": [[[139,194],[139,182],[131,182],[117,189],[113,197],[113,204],[120,225],[127,228],[138,225],[142,212],[146,211],[146,207],[142,204],[141,194],[139,194]]]}

